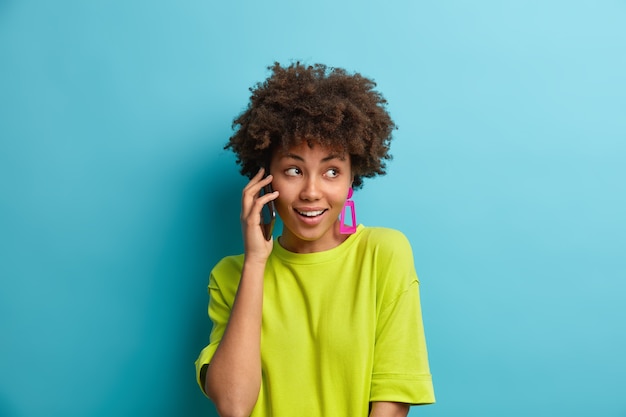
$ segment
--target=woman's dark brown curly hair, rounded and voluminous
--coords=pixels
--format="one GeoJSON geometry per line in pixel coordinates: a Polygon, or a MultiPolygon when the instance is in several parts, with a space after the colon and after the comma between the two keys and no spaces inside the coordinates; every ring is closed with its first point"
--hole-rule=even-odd
{"type": "Polygon", "coordinates": [[[241,174],[252,178],[274,150],[303,140],[347,152],[354,188],[386,173],[396,125],[374,81],[322,64],[276,62],[268,69],[271,76],[250,88],[248,108],[233,121],[235,133],[224,147],[237,155],[241,174]]]}

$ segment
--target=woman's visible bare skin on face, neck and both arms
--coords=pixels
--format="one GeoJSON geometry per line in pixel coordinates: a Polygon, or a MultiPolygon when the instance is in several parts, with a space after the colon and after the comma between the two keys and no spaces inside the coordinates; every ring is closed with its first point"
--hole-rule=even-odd
{"type": "MultiPolygon", "coordinates": [[[[263,276],[273,241],[265,240],[261,208],[274,200],[284,219],[284,245],[296,252],[315,252],[339,245],[337,207],[352,184],[349,158],[332,149],[294,147],[274,155],[271,172],[261,169],[242,193],[241,224],[244,265],[231,315],[220,345],[206,370],[205,391],[221,416],[249,416],[261,387],[261,315],[263,276]],[[277,190],[260,196],[273,183],[277,190]],[[298,210],[323,211],[319,219],[300,219],[298,210]],[[300,220],[299,220],[300,219],[300,220]]],[[[283,241],[281,240],[281,244],[283,241]]],[[[373,402],[371,417],[406,417],[409,405],[373,402]]]]}

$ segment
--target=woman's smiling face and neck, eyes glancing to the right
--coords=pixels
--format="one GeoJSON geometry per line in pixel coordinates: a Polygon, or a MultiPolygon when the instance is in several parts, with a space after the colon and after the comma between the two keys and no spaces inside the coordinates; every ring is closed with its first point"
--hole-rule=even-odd
{"type": "Polygon", "coordinates": [[[306,142],[276,151],[270,163],[283,220],[280,244],[298,253],[320,252],[342,243],[338,217],[352,185],[350,157],[306,142]]]}

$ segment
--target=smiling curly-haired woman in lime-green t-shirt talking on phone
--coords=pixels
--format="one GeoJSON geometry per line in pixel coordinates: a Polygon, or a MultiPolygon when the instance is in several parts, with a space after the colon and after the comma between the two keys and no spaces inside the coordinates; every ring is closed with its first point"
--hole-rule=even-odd
{"type": "Polygon", "coordinates": [[[385,174],[386,101],[342,69],[271,70],[226,145],[251,178],[244,254],[211,273],[198,383],[221,416],[406,416],[434,402],[410,245],[338,219],[352,188],[385,174]],[[260,227],[270,201],[277,241],[260,227]]]}

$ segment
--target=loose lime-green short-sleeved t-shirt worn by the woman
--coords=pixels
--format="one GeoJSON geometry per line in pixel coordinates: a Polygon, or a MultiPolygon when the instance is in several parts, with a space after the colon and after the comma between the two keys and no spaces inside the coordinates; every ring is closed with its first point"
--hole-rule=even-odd
{"type": "MultiPolygon", "coordinates": [[[[228,322],[243,255],[222,259],[209,281],[210,344],[228,322]]],[[[310,254],[276,241],[263,284],[262,381],[253,417],[367,416],[371,401],[434,402],[419,282],[406,237],[358,227],[341,245],[310,254]]]]}

